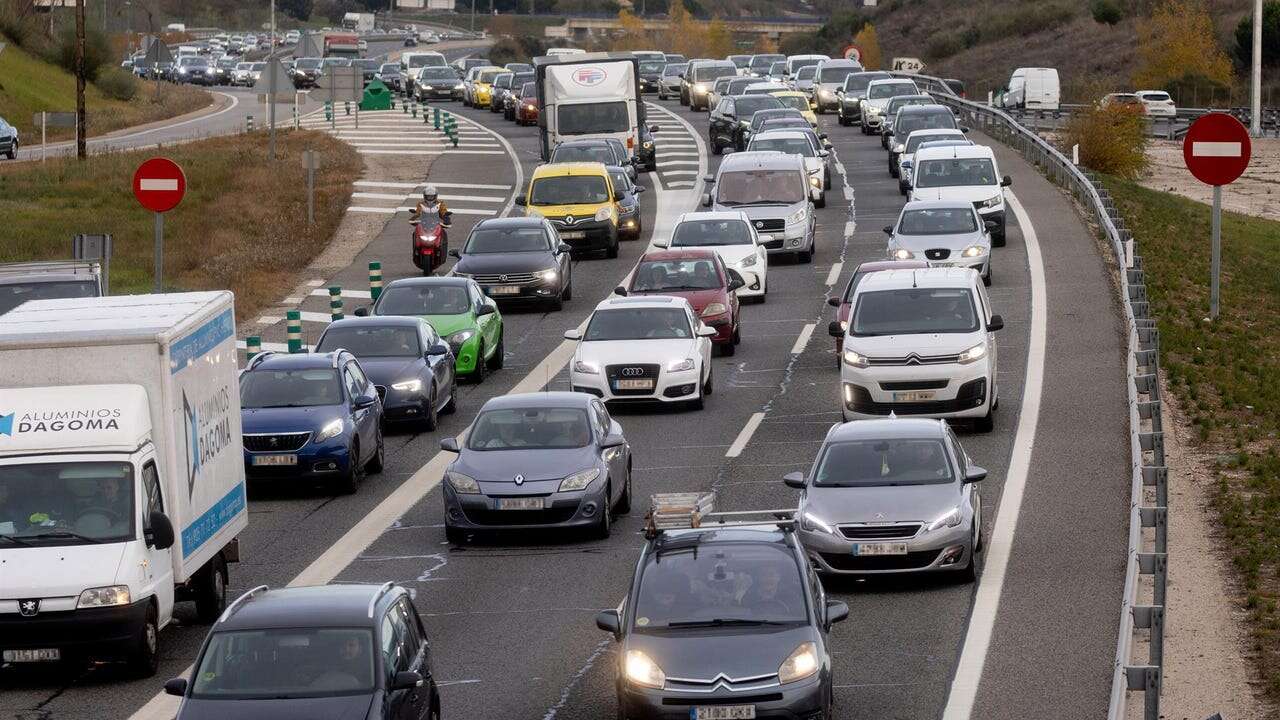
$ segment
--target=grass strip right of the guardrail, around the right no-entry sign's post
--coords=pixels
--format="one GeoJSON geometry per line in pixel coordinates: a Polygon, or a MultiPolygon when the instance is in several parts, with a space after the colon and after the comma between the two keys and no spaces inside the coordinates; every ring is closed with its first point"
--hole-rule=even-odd
{"type": "Polygon", "coordinates": [[[1213,503],[1252,655],[1280,700],[1280,223],[1222,214],[1221,315],[1207,323],[1210,208],[1126,181],[1106,184],[1146,264],[1167,387],[1217,456],[1213,503]]]}

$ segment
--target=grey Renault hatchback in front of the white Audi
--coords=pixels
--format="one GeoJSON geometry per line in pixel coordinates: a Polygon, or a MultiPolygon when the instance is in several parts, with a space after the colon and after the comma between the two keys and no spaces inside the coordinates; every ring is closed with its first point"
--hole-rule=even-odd
{"type": "Polygon", "coordinates": [[[586,393],[507,395],[484,404],[440,487],[444,532],[586,528],[608,537],[631,510],[631,446],[604,404],[586,393]]]}

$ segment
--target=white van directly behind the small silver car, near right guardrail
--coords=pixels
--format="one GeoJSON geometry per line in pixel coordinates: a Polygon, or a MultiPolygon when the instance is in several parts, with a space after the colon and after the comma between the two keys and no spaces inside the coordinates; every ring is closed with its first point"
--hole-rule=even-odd
{"type": "Polygon", "coordinates": [[[963,200],[973,202],[991,225],[991,243],[1005,246],[1005,188],[996,154],[986,145],[925,147],[915,152],[910,200],[963,200]]]}

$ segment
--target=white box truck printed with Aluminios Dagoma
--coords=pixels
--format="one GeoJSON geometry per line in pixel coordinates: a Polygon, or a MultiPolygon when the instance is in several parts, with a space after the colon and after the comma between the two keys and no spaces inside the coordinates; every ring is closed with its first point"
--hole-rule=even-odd
{"type": "Polygon", "coordinates": [[[159,661],[205,621],[248,523],[230,292],[26,302],[0,316],[0,652],[159,661]]]}

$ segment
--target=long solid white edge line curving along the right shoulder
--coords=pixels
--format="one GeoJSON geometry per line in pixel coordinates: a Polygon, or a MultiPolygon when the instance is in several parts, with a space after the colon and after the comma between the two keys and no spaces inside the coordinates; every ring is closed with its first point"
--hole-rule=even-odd
{"type": "Polygon", "coordinates": [[[973,612],[969,616],[969,629],[965,633],[956,674],[951,679],[947,705],[942,720],[969,720],[973,715],[978,685],[982,682],[987,652],[991,650],[991,635],[996,629],[996,612],[1000,610],[1000,594],[1009,571],[1009,553],[1018,530],[1018,515],[1023,507],[1023,493],[1027,489],[1027,475],[1036,446],[1036,427],[1039,420],[1041,391],[1044,382],[1044,260],[1041,256],[1039,240],[1032,219],[1012,192],[1006,192],[1009,206],[1018,217],[1018,225],[1027,241],[1027,260],[1032,275],[1032,318],[1030,346],[1027,348],[1027,375],[1023,380],[1023,406],[1018,413],[1018,430],[1014,434],[1014,450],[1009,460],[1009,473],[1005,488],[1000,496],[1000,510],[996,524],[987,539],[987,557],[974,593],[973,612]]]}

